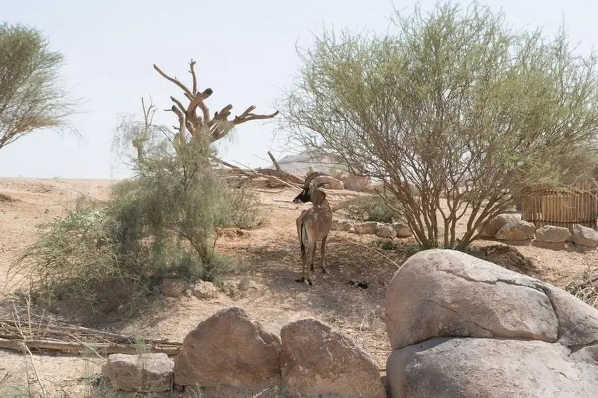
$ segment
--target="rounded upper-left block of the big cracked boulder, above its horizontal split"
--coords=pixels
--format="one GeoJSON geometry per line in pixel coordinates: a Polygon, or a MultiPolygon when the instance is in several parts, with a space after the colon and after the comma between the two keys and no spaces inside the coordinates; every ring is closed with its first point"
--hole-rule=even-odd
{"type": "Polygon", "coordinates": [[[386,293],[392,349],[432,337],[557,340],[542,284],[455,250],[425,250],[395,273],[386,293]]]}

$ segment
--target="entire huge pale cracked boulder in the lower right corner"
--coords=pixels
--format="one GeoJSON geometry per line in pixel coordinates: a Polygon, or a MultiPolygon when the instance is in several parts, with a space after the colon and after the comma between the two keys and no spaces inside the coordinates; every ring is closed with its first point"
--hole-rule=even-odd
{"type": "Polygon", "coordinates": [[[595,396],[598,310],[491,262],[413,255],[387,288],[385,321],[391,397],[595,396]]]}

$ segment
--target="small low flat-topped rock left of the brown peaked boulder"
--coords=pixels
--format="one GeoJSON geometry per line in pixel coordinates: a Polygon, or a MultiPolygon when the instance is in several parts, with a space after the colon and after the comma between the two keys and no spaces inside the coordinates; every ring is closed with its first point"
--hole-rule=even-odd
{"type": "Polygon", "coordinates": [[[114,389],[135,392],[164,392],[171,388],[174,362],[163,353],[111,354],[102,374],[114,389]]]}

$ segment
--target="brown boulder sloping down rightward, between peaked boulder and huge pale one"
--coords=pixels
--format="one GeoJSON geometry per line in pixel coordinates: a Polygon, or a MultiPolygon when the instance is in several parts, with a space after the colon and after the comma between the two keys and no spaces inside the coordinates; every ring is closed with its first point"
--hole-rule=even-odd
{"type": "Polygon", "coordinates": [[[330,326],[311,318],[298,320],[283,326],[280,337],[283,387],[288,394],[386,397],[372,359],[330,326]]]}

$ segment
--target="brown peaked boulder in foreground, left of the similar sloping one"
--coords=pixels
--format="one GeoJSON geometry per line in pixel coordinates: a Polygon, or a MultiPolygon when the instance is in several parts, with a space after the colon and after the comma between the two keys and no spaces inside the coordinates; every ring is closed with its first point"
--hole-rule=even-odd
{"type": "Polygon", "coordinates": [[[259,389],[280,384],[280,339],[240,307],[200,322],[183,340],[174,382],[259,389]]]}

